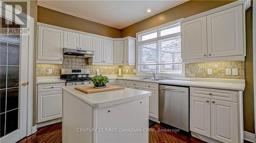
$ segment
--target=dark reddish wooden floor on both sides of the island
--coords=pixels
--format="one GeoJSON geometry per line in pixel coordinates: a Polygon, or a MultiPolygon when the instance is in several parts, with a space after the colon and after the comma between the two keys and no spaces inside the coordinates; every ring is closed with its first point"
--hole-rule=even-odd
{"type": "MultiPolygon", "coordinates": [[[[183,135],[181,133],[175,133],[172,131],[166,131],[168,129],[160,124],[156,124],[151,127],[154,131],[150,131],[149,133],[149,142],[204,142],[197,138],[190,137],[187,135],[183,135]],[[161,129],[161,130],[160,130],[161,129]],[[160,131],[159,131],[160,130],[160,131]]],[[[61,123],[52,124],[49,126],[41,127],[37,129],[37,132],[32,134],[29,137],[23,138],[18,141],[19,143],[34,143],[34,142],[61,142],[61,123]]]]}

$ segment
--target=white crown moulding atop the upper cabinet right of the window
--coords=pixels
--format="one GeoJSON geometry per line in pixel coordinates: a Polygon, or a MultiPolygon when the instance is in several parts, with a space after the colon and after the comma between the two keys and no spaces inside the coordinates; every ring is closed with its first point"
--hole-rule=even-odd
{"type": "Polygon", "coordinates": [[[239,6],[239,5],[244,5],[245,3],[246,3],[246,1],[243,1],[243,0],[242,1],[241,0],[236,1],[236,2],[227,4],[227,5],[212,9],[212,10],[208,10],[208,11],[205,11],[205,12],[193,15],[193,16],[186,17],[186,18],[182,19],[181,22],[193,20],[193,19],[196,19],[196,18],[199,18],[199,17],[203,17],[203,16],[206,16],[206,15],[216,13],[216,12],[219,12],[219,11],[223,11],[223,10],[226,10],[226,9],[229,9],[229,8],[232,8],[232,7],[236,7],[236,6],[239,6]]]}

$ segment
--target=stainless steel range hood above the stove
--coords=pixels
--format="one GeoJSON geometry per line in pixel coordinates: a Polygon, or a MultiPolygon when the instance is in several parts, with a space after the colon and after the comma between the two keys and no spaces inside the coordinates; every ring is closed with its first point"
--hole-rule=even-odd
{"type": "Polygon", "coordinates": [[[94,55],[94,51],[63,48],[63,56],[74,56],[80,58],[91,58],[94,55]]]}

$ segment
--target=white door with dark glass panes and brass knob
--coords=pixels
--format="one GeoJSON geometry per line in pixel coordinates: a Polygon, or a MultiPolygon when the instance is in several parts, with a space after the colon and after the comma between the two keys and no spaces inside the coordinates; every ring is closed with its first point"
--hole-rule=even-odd
{"type": "MultiPolygon", "coordinates": [[[[4,18],[2,26],[8,31],[20,30],[19,24],[11,25],[4,18]]],[[[0,39],[0,142],[16,142],[27,134],[29,36],[9,33],[0,39]]]]}

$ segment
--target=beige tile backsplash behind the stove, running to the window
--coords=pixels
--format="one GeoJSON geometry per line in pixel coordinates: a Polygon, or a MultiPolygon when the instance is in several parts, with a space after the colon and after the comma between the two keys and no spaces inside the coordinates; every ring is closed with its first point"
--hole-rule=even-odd
{"type": "Polygon", "coordinates": [[[121,68],[122,74],[136,74],[133,73],[135,66],[95,66],[89,65],[87,59],[83,58],[72,58],[64,57],[61,65],[58,64],[37,64],[36,65],[36,76],[60,76],[61,68],[89,68],[90,74],[95,75],[96,70],[99,69],[100,74],[118,74],[118,68],[121,68]],[[49,74],[49,69],[52,69],[52,74],[49,74]],[[126,72],[128,69],[128,72],[126,72]]]}

